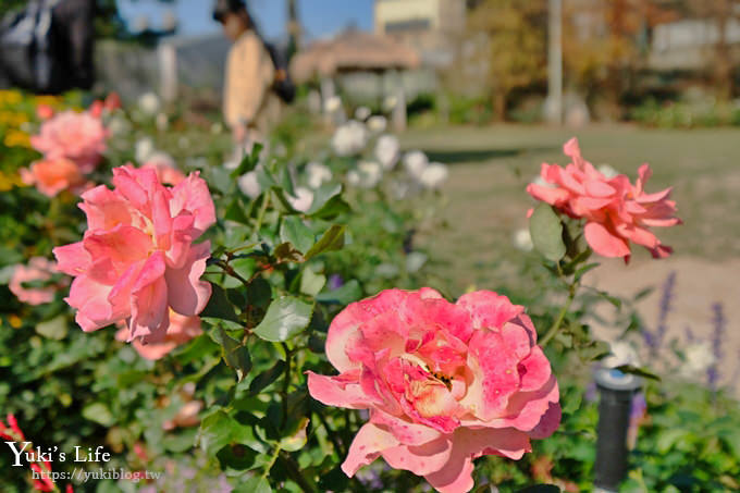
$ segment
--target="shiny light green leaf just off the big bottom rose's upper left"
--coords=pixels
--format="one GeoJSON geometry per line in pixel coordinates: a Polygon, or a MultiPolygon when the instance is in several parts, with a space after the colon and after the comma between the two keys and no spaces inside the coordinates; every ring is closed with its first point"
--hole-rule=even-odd
{"type": "Polygon", "coordinates": [[[254,332],[266,341],[284,342],[308,326],[311,313],[312,304],[283,296],[270,304],[268,312],[254,332]]]}

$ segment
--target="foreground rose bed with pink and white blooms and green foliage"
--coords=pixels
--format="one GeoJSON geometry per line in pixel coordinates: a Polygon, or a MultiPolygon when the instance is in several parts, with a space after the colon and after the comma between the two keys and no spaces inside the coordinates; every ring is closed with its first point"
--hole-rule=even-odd
{"type": "MultiPolygon", "coordinates": [[[[646,165],[632,184],[587,162],[576,140],[571,163],[543,164],[520,243],[548,278],[518,304],[434,288],[433,251],[415,235],[439,230],[449,169],[403,149],[380,115],[358,111],[313,156],[273,141],[224,163],[227,145],[201,156],[169,132],[189,128],[185,118],[151,98],[82,110],[0,96],[28,104],[23,162],[2,168],[17,176],[0,213],[5,439],[23,429],[47,447],[103,446],[106,467],[165,472],[100,488],[589,489],[588,374],[609,347],[582,323],[592,301],[581,279],[597,268],[592,254],[628,260],[632,243],[670,252],[651,229],[680,222],[676,202],[645,190],[646,165]],[[554,303],[551,289],[565,296],[554,303]]],[[[198,132],[220,134],[210,122],[198,132]]],[[[650,377],[612,353],[606,365],[650,377]]],[[[680,470],[655,451],[682,460],[690,441],[704,460],[696,491],[740,488],[740,417],[720,392],[671,433],[677,403],[711,391],[648,386],[630,484],[670,491],[680,470]]],[[[0,455],[3,491],[74,488],[28,470],[78,465],[10,458],[0,455]]]]}

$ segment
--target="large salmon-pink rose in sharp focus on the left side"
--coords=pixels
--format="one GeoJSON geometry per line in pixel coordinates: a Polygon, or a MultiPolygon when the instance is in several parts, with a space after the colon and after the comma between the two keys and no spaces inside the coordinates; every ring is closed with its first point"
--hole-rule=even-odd
{"type": "Polygon", "coordinates": [[[171,188],[153,169],[126,165],[113,185],[83,194],[83,241],[54,248],[59,270],[75,276],[65,300],[84,331],[127,319],[128,341],[162,342],[170,308],[195,316],[211,295],[200,281],[210,243],[194,242],[215,222],[213,200],[198,173],[171,188]]]}

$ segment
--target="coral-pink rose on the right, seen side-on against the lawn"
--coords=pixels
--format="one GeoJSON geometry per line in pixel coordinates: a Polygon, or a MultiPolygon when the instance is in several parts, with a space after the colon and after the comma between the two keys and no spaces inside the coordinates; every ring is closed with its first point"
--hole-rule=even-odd
{"type": "Polygon", "coordinates": [[[648,248],[653,257],[668,257],[673,249],[663,245],[650,231],[651,226],[680,224],[676,202],[669,200],[670,188],[654,194],[644,189],[652,174],[650,167],[640,167],[632,185],[624,174],[606,177],[581,157],[578,140],[572,138],[563,148],[572,162],[562,168],[542,164],[544,184],[531,183],[527,192],[538,200],[554,206],[571,218],[584,219],[584,236],[593,250],[604,257],[630,258],[630,242],[648,248]]]}

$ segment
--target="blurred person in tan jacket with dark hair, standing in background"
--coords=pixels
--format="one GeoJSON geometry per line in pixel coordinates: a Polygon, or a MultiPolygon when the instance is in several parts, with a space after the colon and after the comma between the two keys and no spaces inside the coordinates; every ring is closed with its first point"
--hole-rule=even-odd
{"type": "Polygon", "coordinates": [[[280,116],[280,98],[271,90],[275,65],[243,0],[217,0],[213,19],[233,41],[226,60],[223,116],[237,146],[266,144],[280,116]]]}

